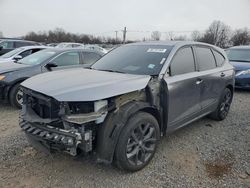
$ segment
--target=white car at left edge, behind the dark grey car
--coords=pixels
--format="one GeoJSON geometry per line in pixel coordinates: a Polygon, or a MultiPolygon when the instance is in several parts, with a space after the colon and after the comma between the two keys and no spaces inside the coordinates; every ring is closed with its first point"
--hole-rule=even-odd
{"type": "Polygon", "coordinates": [[[0,56],[0,63],[2,62],[10,62],[10,61],[19,61],[20,59],[31,55],[40,50],[46,49],[46,46],[24,46],[20,48],[16,48],[2,56],[0,56]]]}

